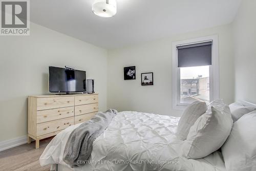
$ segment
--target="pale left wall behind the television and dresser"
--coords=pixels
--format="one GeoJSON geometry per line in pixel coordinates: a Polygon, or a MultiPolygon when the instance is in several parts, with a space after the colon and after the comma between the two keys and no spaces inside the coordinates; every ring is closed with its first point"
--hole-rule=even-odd
{"type": "Polygon", "coordinates": [[[48,94],[48,66],[73,66],[95,79],[106,110],[107,51],[31,23],[30,36],[0,36],[0,141],[27,135],[27,96],[48,94]]]}

